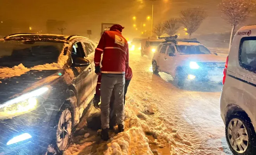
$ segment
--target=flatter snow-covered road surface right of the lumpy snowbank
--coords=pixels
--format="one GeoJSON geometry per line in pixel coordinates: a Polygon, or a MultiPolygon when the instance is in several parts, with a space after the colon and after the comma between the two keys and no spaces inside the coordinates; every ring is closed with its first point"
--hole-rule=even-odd
{"type": "Polygon", "coordinates": [[[129,93],[149,91],[157,100],[155,104],[160,113],[169,116],[169,121],[187,135],[195,148],[209,155],[231,154],[220,117],[220,84],[196,83],[182,90],[173,84],[170,75],[153,74],[151,60],[147,57],[140,57],[139,53],[130,57],[134,76],[129,93]]]}

